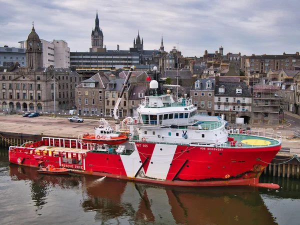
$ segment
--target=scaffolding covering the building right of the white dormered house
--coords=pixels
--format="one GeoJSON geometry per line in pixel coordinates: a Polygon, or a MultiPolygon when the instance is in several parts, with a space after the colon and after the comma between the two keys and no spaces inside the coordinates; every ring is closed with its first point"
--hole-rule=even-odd
{"type": "Polygon", "coordinates": [[[283,119],[280,110],[280,87],[267,84],[253,86],[252,124],[278,125],[283,119]]]}

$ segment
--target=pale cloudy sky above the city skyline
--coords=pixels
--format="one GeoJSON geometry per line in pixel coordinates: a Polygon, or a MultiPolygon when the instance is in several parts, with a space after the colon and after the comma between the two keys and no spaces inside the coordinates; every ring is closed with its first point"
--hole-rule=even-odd
{"type": "Polygon", "coordinates": [[[183,56],[300,51],[299,0],[0,0],[0,46],[18,47],[32,21],[40,39],[65,40],[70,51],[89,51],[98,10],[103,44],[128,50],[178,46],[183,56]]]}

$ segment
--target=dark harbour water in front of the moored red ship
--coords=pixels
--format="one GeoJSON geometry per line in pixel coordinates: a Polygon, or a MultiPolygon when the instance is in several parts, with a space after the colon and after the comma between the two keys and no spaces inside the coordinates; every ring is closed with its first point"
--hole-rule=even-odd
{"type": "Polygon", "coordinates": [[[0,224],[299,224],[300,181],[281,188],[173,187],[91,175],[41,175],[0,149],[0,224]]]}

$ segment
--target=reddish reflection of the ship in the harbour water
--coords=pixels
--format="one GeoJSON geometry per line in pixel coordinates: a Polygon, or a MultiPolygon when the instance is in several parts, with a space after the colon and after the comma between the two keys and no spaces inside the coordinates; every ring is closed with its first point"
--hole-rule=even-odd
{"type": "Polygon", "coordinates": [[[15,164],[9,165],[9,175],[30,183],[37,214],[54,223],[277,224],[253,187],[172,187],[88,175],[41,175],[36,168],[15,164]],[[59,208],[53,211],[53,205],[59,208]]]}

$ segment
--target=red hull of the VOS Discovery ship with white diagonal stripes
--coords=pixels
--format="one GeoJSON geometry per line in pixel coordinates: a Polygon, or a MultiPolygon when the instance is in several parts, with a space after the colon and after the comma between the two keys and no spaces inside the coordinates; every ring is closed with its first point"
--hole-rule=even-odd
{"type": "Polygon", "coordinates": [[[37,167],[42,159],[71,172],[179,186],[258,185],[259,175],[281,147],[240,149],[135,142],[136,150],[130,154],[88,151],[88,147],[66,153],[49,149],[48,145],[61,145],[54,138],[49,140],[34,143],[46,145],[41,149],[10,147],[9,161],[37,167]]]}

